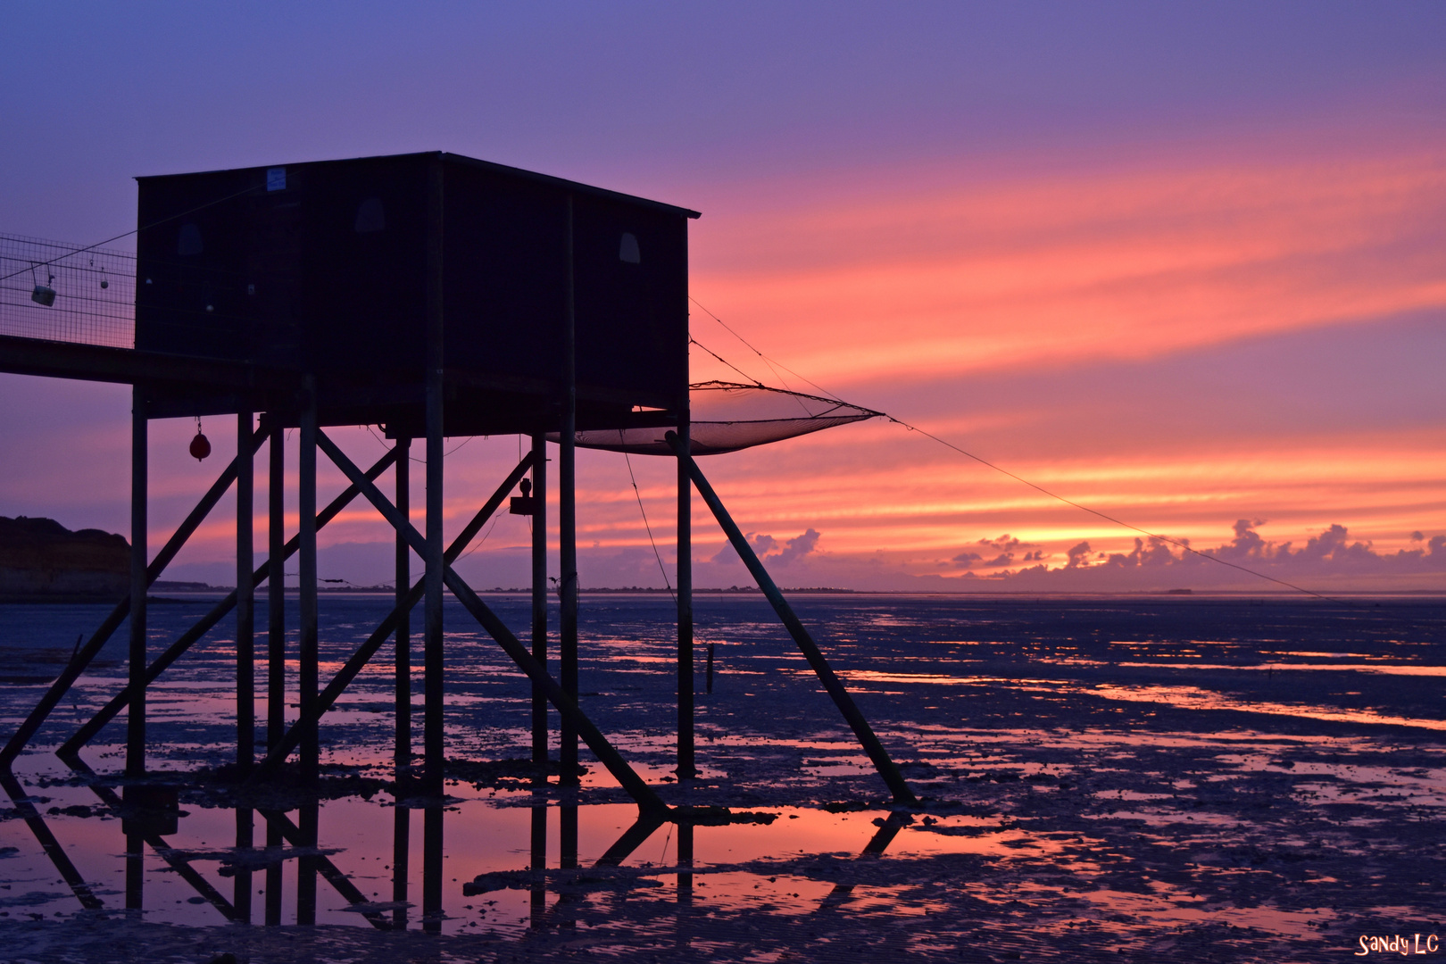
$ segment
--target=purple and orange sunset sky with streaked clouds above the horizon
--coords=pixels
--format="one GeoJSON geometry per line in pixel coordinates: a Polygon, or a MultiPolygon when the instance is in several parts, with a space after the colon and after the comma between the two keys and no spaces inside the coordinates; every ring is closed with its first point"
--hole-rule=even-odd
{"type": "MultiPolygon", "coordinates": [[[[134,175],[414,150],[656,198],[703,211],[694,337],[761,382],[823,386],[1316,591],[1446,588],[1439,3],[19,3],[6,20],[0,233],[120,234],[134,175]]],[[[693,373],[739,377],[697,350],[693,373]]],[[[0,515],[126,532],[129,389],[0,376],[0,515]]],[[[233,422],[208,419],[198,465],[194,428],[152,428],[153,546],[234,451],[233,422]]],[[[334,438],[382,452],[364,429],[334,438]]],[[[450,532],[518,457],[516,438],[461,442],[450,532]]],[[[1281,588],[1137,551],[1141,533],[885,421],[701,464],[782,585],[1281,588]]],[[[632,471],[671,580],[674,468],[632,471]]],[[[661,585],[623,457],[584,452],[578,484],[583,585],[661,585]]],[[[230,581],[228,512],[168,578],[230,581]]],[[[743,584],[697,513],[697,584],[743,584]]],[[[505,517],[460,569],[526,585],[526,541],[505,517]]],[[[360,503],[322,543],[322,577],[390,575],[360,503]]]]}

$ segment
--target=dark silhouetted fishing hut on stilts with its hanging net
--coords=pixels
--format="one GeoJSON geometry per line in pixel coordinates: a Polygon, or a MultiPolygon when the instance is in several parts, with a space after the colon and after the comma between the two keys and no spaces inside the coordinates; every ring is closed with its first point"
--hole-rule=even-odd
{"type": "MultiPolygon", "coordinates": [[[[409,614],[421,603],[425,694],[422,775],[415,789],[440,801],[445,753],[442,595],[450,591],[532,681],[535,765],[548,763],[547,704],[551,704],[561,718],[560,785],[577,785],[578,746],[586,743],[636,801],[641,825],[655,827],[665,819],[687,825],[693,819],[690,811],[664,804],[656,789],[593,726],[578,701],[574,451],[587,445],[665,455],[678,464],[678,778],[688,780],[697,772],[690,561],[696,487],[894,799],[914,802],[898,767],[693,458],[876,413],[762,386],[709,383],[694,386],[693,396],[722,402],[730,412],[709,422],[691,419],[687,221],[698,217],[696,212],[445,153],[142,178],[139,208],[134,348],[14,337],[4,337],[0,345],[7,371],[134,386],[129,598],[78,649],[0,753],[7,786],[17,788],[10,776],[16,756],[127,616],[129,684],[59,753],[85,770],[82,747],[124,711],[126,775],[142,780],[147,684],[233,608],[239,778],[250,786],[262,785],[295,753],[302,783],[315,782],[324,714],[385,646],[395,652],[395,753],[398,766],[405,767],[414,759],[409,614]],[[782,396],[790,410],[778,412],[768,405],[782,396]],[[239,454],[152,556],[146,545],[147,422],[211,416],[214,423],[218,415],[236,416],[239,454]],[[359,423],[380,425],[393,441],[392,449],[366,468],[351,462],[325,432],[334,425],[359,423]],[[285,530],[282,504],[286,478],[282,439],[288,429],[299,431],[299,530],[294,535],[285,530]],[[445,542],[444,439],[502,434],[529,436],[531,451],[469,525],[445,542]],[[424,503],[421,528],[411,522],[412,439],[424,442],[427,455],[424,497],[418,500],[424,503]],[[555,646],[548,640],[545,613],[548,439],[558,448],[561,620],[555,646]],[[262,445],[268,447],[270,478],[269,559],[253,569],[252,496],[254,455],[262,445]],[[318,451],[350,483],[320,509],[318,451]],[[393,473],[392,496],[383,494],[376,481],[388,470],[393,473]],[[528,515],[534,522],[532,624],[529,633],[518,634],[457,575],[451,562],[525,478],[531,487],[509,504],[510,512],[528,515]],[[237,489],[236,591],[165,652],[152,653],[146,645],[146,588],[231,484],[237,489]],[[359,496],[396,532],[396,603],[337,675],[322,681],[317,656],[322,629],[317,611],[317,529],[359,496]],[[424,562],[422,578],[415,582],[411,552],[424,562]],[[301,624],[294,653],[286,647],[282,580],[270,578],[292,555],[299,572],[301,624]],[[268,718],[259,726],[253,600],[263,582],[269,603],[263,653],[268,718]],[[529,636],[526,645],[521,636],[529,636]],[[288,658],[299,665],[295,694],[285,691],[288,658]],[[299,704],[298,718],[291,721],[283,715],[289,700],[299,704]]],[[[62,296],[46,305],[38,301],[27,311],[72,309],[62,296]]],[[[139,805],[130,791],[126,804],[132,809],[139,805]]],[[[143,821],[136,827],[137,834],[147,832],[143,821]]],[[[441,856],[440,828],[438,822],[435,834],[428,830],[427,835],[424,912],[440,908],[440,863],[431,860],[441,856]]],[[[299,825],[285,815],[268,815],[268,843],[279,845],[283,838],[315,845],[314,808],[309,817],[302,811],[299,825]]],[[[250,830],[239,831],[237,845],[250,843],[250,830]]],[[[312,874],[314,899],[314,873],[325,869],[315,861],[308,867],[304,870],[312,874]]],[[[237,900],[233,911],[241,915],[237,900]]],[[[298,919],[302,918],[304,913],[298,919]]]]}

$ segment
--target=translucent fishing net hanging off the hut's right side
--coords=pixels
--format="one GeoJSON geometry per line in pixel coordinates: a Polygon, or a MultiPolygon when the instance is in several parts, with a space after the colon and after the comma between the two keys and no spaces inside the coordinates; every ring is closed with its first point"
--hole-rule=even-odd
{"type": "MultiPolygon", "coordinates": [[[[837,399],[733,382],[690,386],[688,405],[694,455],[736,452],[884,415],[837,399]]],[[[577,434],[577,444],[633,455],[672,455],[664,439],[671,431],[672,426],[586,431],[577,434]]],[[[549,438],[558,441],[557,435],[549,438]]]]}

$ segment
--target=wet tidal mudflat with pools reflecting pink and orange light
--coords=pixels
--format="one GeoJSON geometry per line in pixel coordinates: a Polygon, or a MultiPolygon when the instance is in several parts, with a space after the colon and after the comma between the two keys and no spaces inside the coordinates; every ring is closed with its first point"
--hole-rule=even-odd
{"type": "MultiPolygon", "coordinates": [[[[489,603],[526,626],[525,597],[489,603]]],[[[208,606],[156,606],[156,647],[208,606]]],[[[1439,600],[800,595],[800,616],[924,798],[908,814],[891,811],[755,595],[697,600],[703,776],[672,779],[669,607],[667,595],[584,597],[581,691],[669,802],[730,808],[733,822],[693,830],[691,864],[671,824],[628,838],[617,860],[636,808],[586,752],[581,791],[535,783],[521,762],[528,685],[460,607],[447,610],[444,806],[396,805],[383,649],[324,721],[318,847],[268,848],[257,801],[224,782],[234,665],[223,624],[152,691],[150,769],[184,789],[175,827],[127,863],[123,821],[106,805],[123,717],[82,754],[98,783],[49,753],[123,682],[121,632],[16,767],[90,899],[46,856],[26,806],[0,796],[0,958],[1339,961],[1361,955],[1362,935],[1443,945],[1439,600]],[[710,642],[717,675],[704,694],[710,642]],[[252,847],[236,845],[239,802],[252,847]],[[442,915],[424,922],[435,824],[442,915]],[[542,840],[545,861],[534,861],[542,840]],[[315,926],[295,925],[304,858],[322,867],[315,926]],[[239,879],[249,926],[224,916],[244,903],[239,879]],[[127,885],[139,912],[124,909],[127,885]],[[278,926],[262,924],[268,900],[278,926]]],[[[382,597],[322,598],[322,679],[386,608],[382,597]]],[[[103,614],[0,607],[0,730],[103,614]]],[[[418,673],[418,704],[419,687],[418,673]]]]}

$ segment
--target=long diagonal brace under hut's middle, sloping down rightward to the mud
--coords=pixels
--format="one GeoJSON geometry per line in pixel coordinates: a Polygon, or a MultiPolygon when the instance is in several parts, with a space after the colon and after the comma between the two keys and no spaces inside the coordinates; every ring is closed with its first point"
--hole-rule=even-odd
{"type": "MultiPolygon", "coordinates": [[[[372,502],[376,510],[382,513],[382,517],[392,523],[393,529],[402,533],[418,555],[425,558],[427,539],[424,539],[422,535],[402,517],[402,513],[399,513],[388,497],[382,494],[382,490],[379,490],[369,480],[363,478],[362,470],[359,470],[356,464],[347,458],[346,452],[337,448],[337,445],[327,438],[327,434],[320,429],[317,431],[317,447],[327,454],[327,458],[330,458],[347,478],[362,486],[362,494],[372,502]]],[[[557,711],[577,727],[577,734],[587,743],[587,749],[593,752],[593,756],[597,757],[599,763],[607,767],[607,772],[613,775],[613,779],[616,779],[622,788],[628,791],[628,793],[633,798],[633,802],[638,804],[638,808],[645,812],[667,812],[668,805],[662,802],[658,793],[648,786],[641,776],[638,776],[622,754],[617,753],[617,750],[607,741],[607,737],[603,736],[602,730],[599,730],[593,721],[587,718],[578,705],[573,702],[571,697],[562,691],[562,687],[560,687],[558,682],[548,675],[542,663],[532,658],[532,653],[529,653],[521,640],[513,636],[512,630],[508,629],[497,614],[487,608],[486,603],[477,598],[477,594],[461,577],[457,575],[451,565],[444,564],[442,580],[445,581],[447,588],[451,590],[453,595],[457,597],[457,601],[461,603],[463,607],[471,613],[473,619],[476,619],[497,642],[497,645],[502,646],[508,656],[512,658],[512,662],[515,662],[518,668],[532,679],[532,682],[542,687],[548,702],[557,707],[557,711]]]]}

